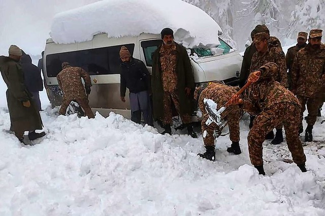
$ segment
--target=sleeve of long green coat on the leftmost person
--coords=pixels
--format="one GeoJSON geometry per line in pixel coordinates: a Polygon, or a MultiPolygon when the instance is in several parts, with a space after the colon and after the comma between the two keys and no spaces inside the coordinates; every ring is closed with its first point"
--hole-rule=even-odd
{"type": "Polygon", "coordinates": [[[17,65],[10,65],[8,68],[8,84],[8,89],[15,98],[21,102],[29,100],[22,71],[17,65]]]}

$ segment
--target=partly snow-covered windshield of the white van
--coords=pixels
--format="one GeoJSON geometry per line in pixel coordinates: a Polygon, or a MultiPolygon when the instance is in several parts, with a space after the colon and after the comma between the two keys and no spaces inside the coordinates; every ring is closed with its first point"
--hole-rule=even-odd
{"type": "Polygon", "coordinates": [[[190,49],[191,55],[197,54],[198,57],[207,57],[207,56],[217,56],[229,53],[232,49],[226,42],[219,38],[220,45],[215,48],[205,49],[205,48],[194,48],[190,49]]]}

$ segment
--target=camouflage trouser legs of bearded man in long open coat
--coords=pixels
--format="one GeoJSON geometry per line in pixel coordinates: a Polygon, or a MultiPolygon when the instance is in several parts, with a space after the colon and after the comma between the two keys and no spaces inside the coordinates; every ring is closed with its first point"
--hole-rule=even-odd
{"type": "Polygon", "coordinates": [[[179,100],[176,92],[164,92],[164,118],[163,123],[171,124],[173,119],[172,103],[174,103],[177,113],[180,115],[183,124],[190,123],[191,116],[189,114],[181,114],[179,100]]]}

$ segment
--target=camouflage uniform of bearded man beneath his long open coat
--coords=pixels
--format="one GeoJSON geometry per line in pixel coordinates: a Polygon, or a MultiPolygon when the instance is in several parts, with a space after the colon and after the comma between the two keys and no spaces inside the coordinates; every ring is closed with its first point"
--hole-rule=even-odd
{"type": "Polygon", "coordinates": [[[176,74],[176,63],[177,63],[177,50],[176,44],[174,43],[170,49],[166,49],[161,46],[159,50],[160,54],[160,66],[161,66],[161,80],[163,82],[164,90],[164,124],[171,124],[173,113],[172,113],[172,103],[174,103],[177,112],[180,114],[182,122],[184,124],[191,122],[191,117],[189,114],[181,114],[180,104],[177,94],[177,83],[178,78],[176,74]]]}

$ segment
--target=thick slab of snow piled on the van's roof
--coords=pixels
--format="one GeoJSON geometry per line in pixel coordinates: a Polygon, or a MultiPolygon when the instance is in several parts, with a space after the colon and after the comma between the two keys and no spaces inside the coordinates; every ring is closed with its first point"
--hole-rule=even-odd
{"type": "Polygon", "coordinates": [[[181,0],[105,0],[54,16],[50,35],[58,44],[108,37],[160,34],[174,30],[175,40],[186,48],[219,45],[219,25],[201,9],[181,0]]]}

